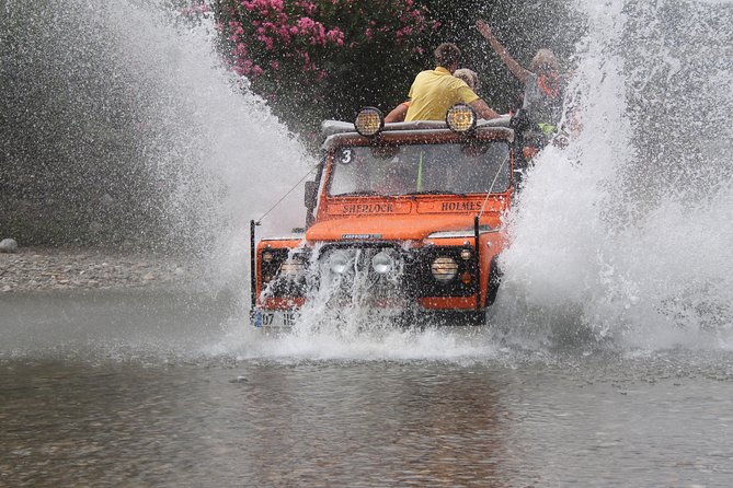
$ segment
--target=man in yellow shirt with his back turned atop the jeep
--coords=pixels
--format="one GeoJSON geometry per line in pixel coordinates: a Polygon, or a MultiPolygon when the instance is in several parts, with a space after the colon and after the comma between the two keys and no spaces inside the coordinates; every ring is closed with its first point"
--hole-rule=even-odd
{"type": "Polygon", "coordinates": [[[499,117],[463,80],[453,75],[459,61],[460,49],[455,44],[443,43],[435,49],[436,68],[419,73],[410,88],[405,120],[445,120],[448,108],[460,102],[470,105],[481,118],[499,117]]]}

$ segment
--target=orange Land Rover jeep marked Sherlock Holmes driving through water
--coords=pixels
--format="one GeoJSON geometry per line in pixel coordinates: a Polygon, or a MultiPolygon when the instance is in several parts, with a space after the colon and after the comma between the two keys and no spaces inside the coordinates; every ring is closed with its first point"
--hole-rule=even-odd
{"type": "Polygon", "coordinates": [[[477,124],[457,105],[446,123],[385,125],[368,107],[355,124],[329,120],[322,129],[305,232],[255,246],[251,222],[253,324],[293,325],[323,287],[339,306],[357,286],[369,306],[483,324],[514,190],[508,118],[477,124]]]}

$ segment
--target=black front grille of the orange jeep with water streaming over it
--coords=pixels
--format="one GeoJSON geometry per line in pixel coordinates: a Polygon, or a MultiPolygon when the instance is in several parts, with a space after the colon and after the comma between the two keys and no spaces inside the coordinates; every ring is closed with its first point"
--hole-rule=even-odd
{"type": "Polygon", "coordinates": [[[301,248],[295,254],[279,252],[277,259],[262,266],[261,275],[268,278],[260,289],[257,303],[263,310],[298,309],[306,300],[317,298],[334,304],[358,300],[376,307],[401,302],[425,310],[477,309],[478,263],[469,244],[409,248],[399,243],[350,242],[301,248]],[[375,270],[373,260],[380,253],[393,259],[389,272],[375,270]],[[341,274],[333,271],[335,256],[344,268],[341,274]],[[432,265],[437,258],[455,263],[453,279],[439,281],[433,276],[432,265]],[[287,259],[302,263],[302,272],[285,276],[282,269],[287,259]]]}

